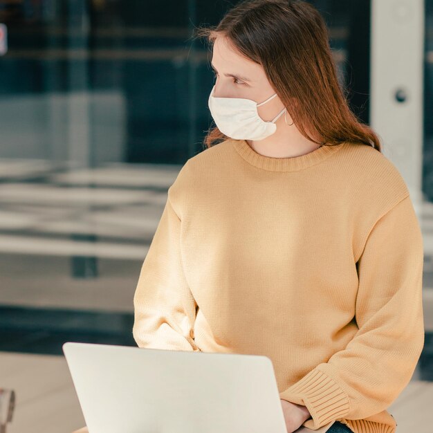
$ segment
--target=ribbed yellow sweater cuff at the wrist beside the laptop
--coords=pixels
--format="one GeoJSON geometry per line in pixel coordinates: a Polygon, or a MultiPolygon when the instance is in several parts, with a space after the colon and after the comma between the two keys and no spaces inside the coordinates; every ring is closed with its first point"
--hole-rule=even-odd
{"type": "Polygon", "coordinates": [[[349,397],[344,389],[318,369],[311,370],[297,383],[280,392],[279,397],[306,406],[313,419],[308,419],[303,425],[312,430],[343,418],[350,409],[349,397]]]}

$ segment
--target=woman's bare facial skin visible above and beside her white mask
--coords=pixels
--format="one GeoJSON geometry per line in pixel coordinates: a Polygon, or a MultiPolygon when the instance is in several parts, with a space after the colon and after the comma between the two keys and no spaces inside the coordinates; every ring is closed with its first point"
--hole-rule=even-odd
{"type": "MultiPolygon", "coordinates": [[[[259,104],[275,93],[263,66],[238,53],[226,37],[218,36],[214,40],[211,66],[216,77],[215,98],[246,98],[259,104]]],[[[276,96],[257,107],[257,112],[268,121],[283,108],[284,104],[276,96]]]]}

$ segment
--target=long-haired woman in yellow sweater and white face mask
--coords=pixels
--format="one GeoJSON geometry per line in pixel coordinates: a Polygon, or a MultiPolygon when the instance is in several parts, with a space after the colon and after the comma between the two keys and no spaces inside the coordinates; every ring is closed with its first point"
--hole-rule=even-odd
{"type": "Polygon", "coordinates": [[[394,433],[424,344],[407,185],[349,110],[313,6],[243,1],[199,35],[216,127],[169,187],[133,336],[268,356],[288,433],[394,433]]]}

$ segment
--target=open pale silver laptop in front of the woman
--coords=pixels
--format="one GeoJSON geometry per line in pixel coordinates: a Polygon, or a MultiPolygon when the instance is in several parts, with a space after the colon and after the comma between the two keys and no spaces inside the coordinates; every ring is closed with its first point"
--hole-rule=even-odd
{"type": "MultiPolygon", "coordinates": [[[[287,433],[267,356],[66,342],[89,433],[287,433]]],[[[301,425],[296,433],[324,433],[301,425]]]]}

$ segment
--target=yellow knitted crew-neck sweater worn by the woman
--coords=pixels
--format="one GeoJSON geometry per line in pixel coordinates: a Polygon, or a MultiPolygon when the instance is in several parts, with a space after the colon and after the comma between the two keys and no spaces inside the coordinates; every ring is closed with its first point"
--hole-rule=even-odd
{"type": "MultiPolygon", "coordinates": [[[[134,295],[138,347],[273,362],[317,430],[393,433],[424,344],[423,239],[396,167],[367,145],[293,158],[225,140],[169,187],[134,295]]],[[[254,378],[252,378],[254,380],[254,378]]]]}

